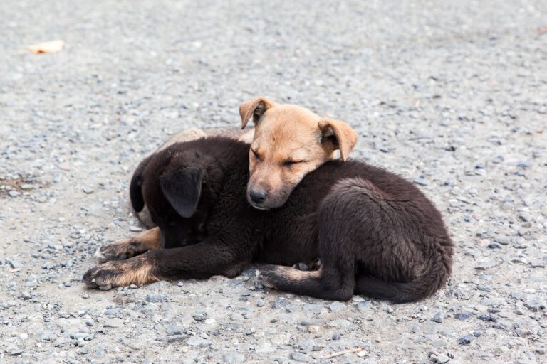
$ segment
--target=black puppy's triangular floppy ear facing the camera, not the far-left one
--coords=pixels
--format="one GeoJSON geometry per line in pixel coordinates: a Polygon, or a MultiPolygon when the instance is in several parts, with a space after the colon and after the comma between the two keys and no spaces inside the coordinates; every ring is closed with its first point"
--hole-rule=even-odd
{"type": "Polygon", "coordinates": [[[191,218],[196,212],[203,173],[202,168],[173,168],[160,177],[165,198],[183,218],[191,218]]]}

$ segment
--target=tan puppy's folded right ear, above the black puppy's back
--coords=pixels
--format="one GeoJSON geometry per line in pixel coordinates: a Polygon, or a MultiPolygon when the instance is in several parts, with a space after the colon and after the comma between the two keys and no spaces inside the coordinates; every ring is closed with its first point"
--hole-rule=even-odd
{"type": "Polygon", "coordinates": [[[333,149],[340,149],[340,158],[346,161],[357,144],[357,133],[341,120],[324,119],[318,122],[321,130],[321,143],[330,144],[333,149]]]}

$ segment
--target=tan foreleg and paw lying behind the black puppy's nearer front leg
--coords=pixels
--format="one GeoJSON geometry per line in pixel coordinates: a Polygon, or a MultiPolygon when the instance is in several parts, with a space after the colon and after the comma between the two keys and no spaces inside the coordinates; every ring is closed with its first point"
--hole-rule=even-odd
{"type": "Polygon", "coordinates": [[[160,228],[153,228],[140,232],[134,237],[118,240],[116,242],[103,245],[97,252],[95,257],[100,260],[123,260],[130,257],[135,257],[148,250],[160,249],[162,247],[162,237],[160,228]]]}

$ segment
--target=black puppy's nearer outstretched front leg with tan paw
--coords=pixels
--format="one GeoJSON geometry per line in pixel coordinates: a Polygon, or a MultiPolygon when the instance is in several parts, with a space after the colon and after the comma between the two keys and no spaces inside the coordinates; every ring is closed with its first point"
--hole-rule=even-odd
{"type": "Polygon", "coordinates": [[[239,257],[224,244],[204,241],[100,264],[85,272],[83,282],[88,287],[125,287],[163,279],[206,279],[218,274],[235,277],[249,262],[250,257],[239,257]]]}

